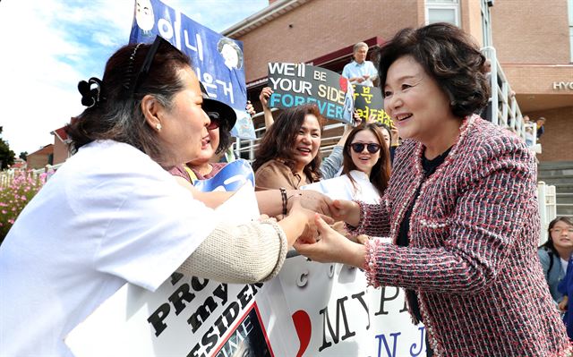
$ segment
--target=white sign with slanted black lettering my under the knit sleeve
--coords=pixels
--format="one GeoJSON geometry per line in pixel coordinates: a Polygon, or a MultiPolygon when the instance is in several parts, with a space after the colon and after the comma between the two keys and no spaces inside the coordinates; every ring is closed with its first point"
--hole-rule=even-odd
{"type": "Polygon", "coordinates": [[[284,339],[295,340],[295,330],[271,323],[280,311],[265,289],[272,284],[227,285],[179,273],[155,293],[126,284],[65,343],[77,357],[295,355],[284,339]]]}

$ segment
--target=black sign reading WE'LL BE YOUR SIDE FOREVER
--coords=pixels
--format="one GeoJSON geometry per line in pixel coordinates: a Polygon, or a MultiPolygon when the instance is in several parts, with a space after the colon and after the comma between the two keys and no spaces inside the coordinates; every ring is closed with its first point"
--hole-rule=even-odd
{"type": "Polygon", "coordinates": [[[318,106],[321,115],[354,123],[354,97],[350,82],[337,72],[309,64],[269,64],[269,107],[318,106]]]}

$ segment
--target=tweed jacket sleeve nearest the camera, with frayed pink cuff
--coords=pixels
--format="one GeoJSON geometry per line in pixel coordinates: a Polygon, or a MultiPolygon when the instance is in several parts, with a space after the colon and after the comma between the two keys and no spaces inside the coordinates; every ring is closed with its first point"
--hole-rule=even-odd
{"type": "MultiPolygon", "coordinates": [[[[449,229],[443,230],[448,236],[440,237],[443,244],[431,249],[368,242],[364,269],[370,285],[480,291],[504,267],[517,239],[534,236],[524,234],[532,227],[524,221],[535,220],[538,214],[534,157],[517,138],[500,136],[488,142],[458,153],[466,156],[462,162],[471,169],[458,174],[462,189],[449,229]]],[[[440,234],[440,229],[435,231],[432,234],[440,234]]]]}

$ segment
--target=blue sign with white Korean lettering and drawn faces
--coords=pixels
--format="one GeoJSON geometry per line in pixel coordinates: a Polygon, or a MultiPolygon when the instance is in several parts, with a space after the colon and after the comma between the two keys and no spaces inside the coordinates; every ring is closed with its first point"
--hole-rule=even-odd
{"type": "Polygon", "coordinates": [[[251,117],[244,110],[247,90],[243,43],[192,21],[159,0],[136,0],[129,42],[150,43],[157,35],[191,57],[197,78],[210,98],[235,109],[237,121],[231,134],[241,139],[255,139],[251,117]]]}

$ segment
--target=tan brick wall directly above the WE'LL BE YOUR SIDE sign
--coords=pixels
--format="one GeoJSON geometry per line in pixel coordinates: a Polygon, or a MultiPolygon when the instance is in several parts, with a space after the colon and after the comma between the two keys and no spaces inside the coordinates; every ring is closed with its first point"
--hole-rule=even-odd
{"type": "Polygon", "coordinates": [[[249,82],[265,77],[269,62],[306,62],[367,38],[391,38],[420,19],[422,0],[312,0],[236,39],[244,41],[249,82]]]}

